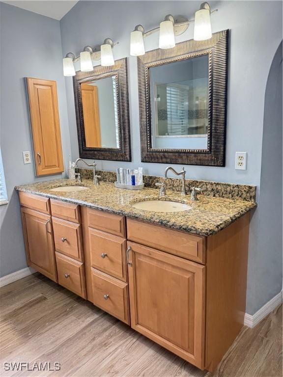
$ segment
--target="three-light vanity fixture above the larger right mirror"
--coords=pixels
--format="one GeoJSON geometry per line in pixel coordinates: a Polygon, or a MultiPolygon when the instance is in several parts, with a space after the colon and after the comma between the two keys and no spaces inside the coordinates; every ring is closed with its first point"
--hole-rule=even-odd
{"type": "Polygon", "coordinates": [[[185,17],[178,17],[176,20],[172,15],[167,15],[165,20],[147,32],[142,25],[137,25],[131,32],[130,54],[132,56],[141,56],[145,54],[143,38],[159,30],[159,48],[171,49],[175,47],[175,35],[180,35],[187,30],[191,22],[195,22],[194,40],[204,41],[212,37],[210,14],[216,12],[210,11],[208,2],[203,2],[199,10],[195,13],[194,20],[188,20],[185,17]]]}

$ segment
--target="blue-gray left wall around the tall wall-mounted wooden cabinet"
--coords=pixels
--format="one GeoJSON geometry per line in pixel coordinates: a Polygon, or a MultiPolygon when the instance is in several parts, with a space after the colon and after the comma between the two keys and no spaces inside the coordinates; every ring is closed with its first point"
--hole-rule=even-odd
{"type": "Polygon", "coordinates": [[[0,145],[9,203],[0,206],[0,276],[27,266],[20,205],[14,187],[35,178],[25,77],[57,81],[64,163],[71,153],[59,21],[0,3],[0,145]]]}

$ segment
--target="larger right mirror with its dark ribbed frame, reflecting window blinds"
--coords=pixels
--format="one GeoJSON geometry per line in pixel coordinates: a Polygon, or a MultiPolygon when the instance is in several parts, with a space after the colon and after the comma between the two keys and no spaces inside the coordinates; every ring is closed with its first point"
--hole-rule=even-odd
{"type": "Polygon", "coordinates": [[[228,30],[138,57],[142,162],[225,166],[228,30]]]}

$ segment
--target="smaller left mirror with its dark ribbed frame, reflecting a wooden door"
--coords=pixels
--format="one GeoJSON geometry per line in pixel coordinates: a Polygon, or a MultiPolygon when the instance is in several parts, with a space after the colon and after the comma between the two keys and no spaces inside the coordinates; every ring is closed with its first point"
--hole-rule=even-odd
{"type": "Polygon", "coordinates": [[[80,157],[131,161],[126,58],[73,78],[80,157]]]}

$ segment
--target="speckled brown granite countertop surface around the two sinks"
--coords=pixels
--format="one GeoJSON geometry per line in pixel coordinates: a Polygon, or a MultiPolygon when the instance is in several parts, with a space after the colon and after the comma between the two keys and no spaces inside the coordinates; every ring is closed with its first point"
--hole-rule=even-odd
{"type": "Polygon", "coordinates": [[[16,189],[69,203],[81,204],[89,208],[102,210],[117,215],[125,215],[171,229],[182,230],[199,236],[210,236],[226,228],[233,221],[256,207],[253,201],[226,199],[199,195],[197,201],[191,201],[190,195],[181,196],[178,192],[167,189],[167,195],[161,200],[186,203],[192,208],[183,212],[150,212],[132,207],[135,202],[159,199],[159,189],[143,188],[128,190],[115,188],[113,183],[101,182],[94,186],[92,181],[84,179],[81,185],[89,189],[77,192],[50,191],[59,186],[78,185],[68,179],[45,181],[30,185],[17,186],[16,189]]]}

